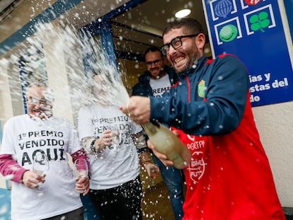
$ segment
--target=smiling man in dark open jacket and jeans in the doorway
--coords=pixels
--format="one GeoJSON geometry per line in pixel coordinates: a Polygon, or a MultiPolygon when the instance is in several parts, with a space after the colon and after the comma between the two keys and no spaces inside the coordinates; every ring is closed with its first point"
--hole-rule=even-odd
{"type": "MultiPolygon", "coordinates": [[[[173,68],[165,64],[165,57],[159,47],[149,47],[144,52],[147,71],[139,76],[139,82],[132,88],[132,95],[161,97],[165,91],[178,81],[178,76],[173,68]]],[[[149,141],[148,141],[149,143],[149,141]]],[[[183,216],[183,178],[181,172],[174,166],[166,167],[152,154],[161,175],[168,188],[171,206],[176,220],[183,216]]]]}

